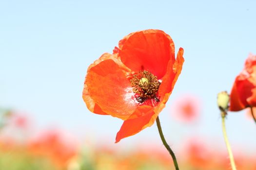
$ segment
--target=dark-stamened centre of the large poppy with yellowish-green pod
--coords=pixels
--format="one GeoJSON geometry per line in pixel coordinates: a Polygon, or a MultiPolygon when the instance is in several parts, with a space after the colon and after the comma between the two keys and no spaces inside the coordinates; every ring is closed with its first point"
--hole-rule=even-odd
{"type": "Polygon", "coordinates": [[[138,95],[136,97],[138,102],[142,103],[147,99],[154,99],[159,102],[157,92],[160,82],[158,82],[157,76],[151,72],[146,70],[138,71],[137,74],[133,75],[130,83],[133,87],[133,92],[138,95]]]}

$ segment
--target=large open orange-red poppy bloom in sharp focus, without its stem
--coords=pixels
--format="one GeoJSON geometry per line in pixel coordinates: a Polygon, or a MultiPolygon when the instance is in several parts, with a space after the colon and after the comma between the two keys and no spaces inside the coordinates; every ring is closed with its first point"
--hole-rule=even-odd
{"type": "Polygon", "coordinates": [[[116,143],[155,122],[184,62],[183,49],[175,59],[172,38],[160,30],[131,33],[118,45],[89,66],[82,95],[91,112],[124,120],[116,143]]]}

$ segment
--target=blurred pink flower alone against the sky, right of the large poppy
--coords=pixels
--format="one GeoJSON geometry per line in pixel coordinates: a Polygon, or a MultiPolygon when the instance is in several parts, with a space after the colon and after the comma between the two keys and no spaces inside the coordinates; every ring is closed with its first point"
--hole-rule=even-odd
{"type": "Polygon", "coordinates": [[[171,114],[180,121],[194,122],[200,109],[200,100],[195,95],[185,94],[173,102],[171,114]]]}

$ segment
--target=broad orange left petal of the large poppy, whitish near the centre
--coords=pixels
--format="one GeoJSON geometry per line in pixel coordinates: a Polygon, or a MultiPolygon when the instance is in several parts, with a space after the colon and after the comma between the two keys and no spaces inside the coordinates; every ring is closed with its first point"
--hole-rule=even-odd
{"type": "Polygon", "coordinates": [[[117,56],[103,54],[87,71],[83,100],[97,114],[128,119],[136,109],[127,68],[117,64],[117,56]]]}

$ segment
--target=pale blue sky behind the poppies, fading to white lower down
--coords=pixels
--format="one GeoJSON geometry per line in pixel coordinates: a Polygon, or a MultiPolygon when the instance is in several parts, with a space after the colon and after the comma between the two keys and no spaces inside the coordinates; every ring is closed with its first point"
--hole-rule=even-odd
{"type": "MultiPolygon", "coordinates": [[[[230,92],[250,52],[256,54],[255,0],[2,0],[0,106],[29,114],[38,129],[58,127],[82,140],[127,147],[162,146],[156,124],[114,144],[122,120],[90,113],[82,100],[88,66],[125,35],[144,29],[169,34],[185,63],[159,118],[174,150],[188,138],[225,147],[217,93],[230,92]],[[202,101],[198,123],[170,115],[183,94],[202,101]]],[[[159,66],[160,67],[160,66],[159,66]]],[[[256,149],[256,124],[229,113],[232,146],[256,149]]]]}

